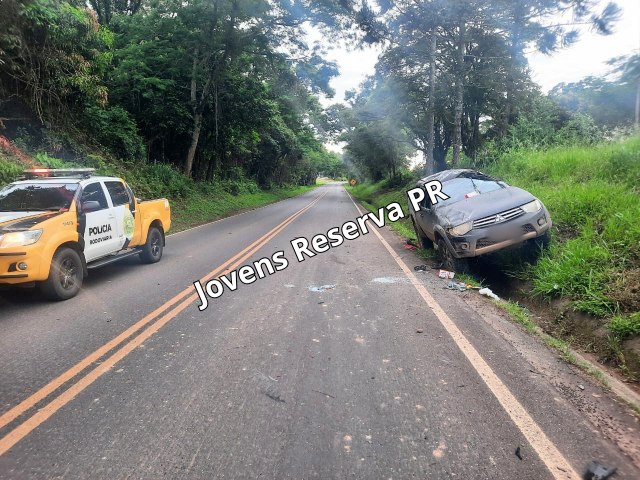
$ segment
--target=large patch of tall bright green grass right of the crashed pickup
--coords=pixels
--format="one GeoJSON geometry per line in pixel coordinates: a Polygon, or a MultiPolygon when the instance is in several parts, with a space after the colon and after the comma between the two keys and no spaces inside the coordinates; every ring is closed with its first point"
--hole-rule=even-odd
{"type": "Polygon", "coordinates": [[[513,152],[487,173],[529,190],[551,213],[555,245],[526,272],[534,294],[570,298],[599,317],[633,308],[612,287],[640,265],[640,137],[513,152]]]}

